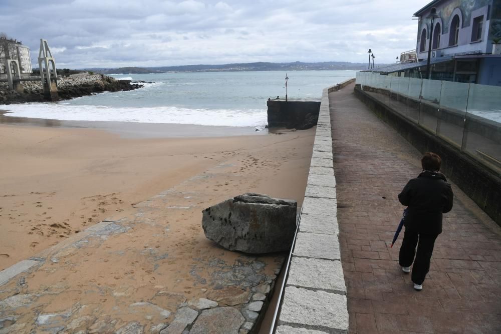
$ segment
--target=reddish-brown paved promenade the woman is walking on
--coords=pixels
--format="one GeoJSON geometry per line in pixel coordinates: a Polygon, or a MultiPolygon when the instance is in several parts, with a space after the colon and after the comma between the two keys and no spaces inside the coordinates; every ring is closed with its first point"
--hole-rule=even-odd
{"type": "Polygon", "coordinates": [[[454,184],[423,290],[402,273],[403,231],[389,248],[404,209],[397,194],[421,171],[421,154],[353,87],[329,95],[350,332],[501,332],[501,229],[454,184]]]}

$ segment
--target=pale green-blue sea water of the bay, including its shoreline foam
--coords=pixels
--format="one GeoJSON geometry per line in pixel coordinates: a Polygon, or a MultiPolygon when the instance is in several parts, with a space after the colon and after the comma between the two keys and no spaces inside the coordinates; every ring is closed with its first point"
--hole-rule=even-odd
{"type": "MultiPolygon", "coordinates": [[[[326,87],[355,78],[356,71],[293,71],[290,99],[321,98],[326,87]]],[[[263,128],[267,100],[285,98],[286,72],[115,74],[146,81],[143,88],[48,103],[0,105],[9,116],[74,121],[126,121],[263,128]]]]}

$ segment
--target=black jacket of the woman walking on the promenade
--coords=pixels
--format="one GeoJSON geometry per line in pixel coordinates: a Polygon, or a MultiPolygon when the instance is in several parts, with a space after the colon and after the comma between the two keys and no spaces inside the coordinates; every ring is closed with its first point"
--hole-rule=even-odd
{"type": "Polygon", "coordinates": [[[442,213],[452,209],[452,189],[440,172],[424,171],[410,180],[398,200],[408,206],[405,228],[418,233],[442,233],[442,213]]]}

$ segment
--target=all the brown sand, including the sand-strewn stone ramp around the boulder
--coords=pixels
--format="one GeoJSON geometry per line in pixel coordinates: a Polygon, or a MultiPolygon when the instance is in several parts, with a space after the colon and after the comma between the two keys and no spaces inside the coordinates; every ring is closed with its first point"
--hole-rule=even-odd
{"type": "Polygon", "coordinates": [[[315,130],[145,138],[143,127],[124,138],[0,124],[0,269],[40,261],[2,286],[0,300],[16,305],[3,306],[8,330],[158,332],[198,298],[246,314],[270,291],[285,254],[221,248],[201,211],[248,191],[301,205],[315,130]],[[116,223],[92,232],[105,218],[116,223]]]}

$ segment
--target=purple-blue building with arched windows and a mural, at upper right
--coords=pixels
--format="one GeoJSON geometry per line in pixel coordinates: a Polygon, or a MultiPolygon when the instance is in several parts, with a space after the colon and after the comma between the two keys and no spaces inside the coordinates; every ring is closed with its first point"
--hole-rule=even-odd
{"type": "Polygon", "coordinates": [[[418,62],[430,52],[431,79],[501,86],[501,0],[435,0],[414,16],[418,62]]]}

